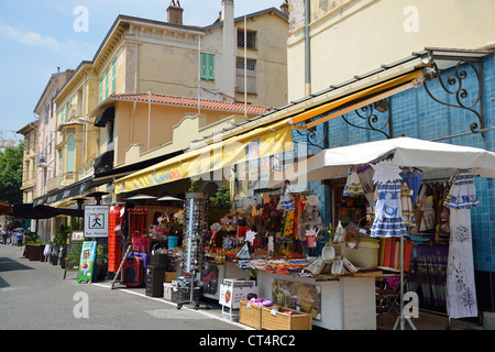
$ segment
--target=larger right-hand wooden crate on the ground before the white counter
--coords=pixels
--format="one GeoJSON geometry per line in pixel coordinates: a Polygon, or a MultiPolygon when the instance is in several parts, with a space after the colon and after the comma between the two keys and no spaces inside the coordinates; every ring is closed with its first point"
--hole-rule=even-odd
{"type": "Polygon", "coordinates": [[[311,316],[288,308],[278,308],[272,311],[272,307],[262,308],[262,329],[265,330],[311,330],[311,316]],[[292,311],[288,315],[287,311],[292,311]]]}

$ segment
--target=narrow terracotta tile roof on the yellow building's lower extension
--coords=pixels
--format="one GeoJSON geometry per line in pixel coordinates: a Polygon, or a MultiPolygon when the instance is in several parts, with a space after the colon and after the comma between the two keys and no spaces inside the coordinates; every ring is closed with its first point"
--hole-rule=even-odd
{"type": "MultiPolygon", "coordinates": [[[[110,98],[113,98],[117,100],[129,100],[129,101],[136,100],[136,101],[142,101],[142,102],[148,102],[150,95],[146,92],[121,94],[121,95],[111,95],[110,98]]],[[[163,103],[163,105],[170,105],[170,106],[183,106],[183,107],[197,107],[198,106],[197,98],[158,95],[158,94],[152,94],[151,101],[153,103],[163,103]]],[[[244,112],[244,103],[229,102],[229,101],[221,101],[221,100],[211,100],[211,99],[201,99],[201,109],[244,112]]],[[[248,110],[248,113],[262,114],[262,113],[272,111],[273,108],[248,105],[246,110],[248,110]]]]}

